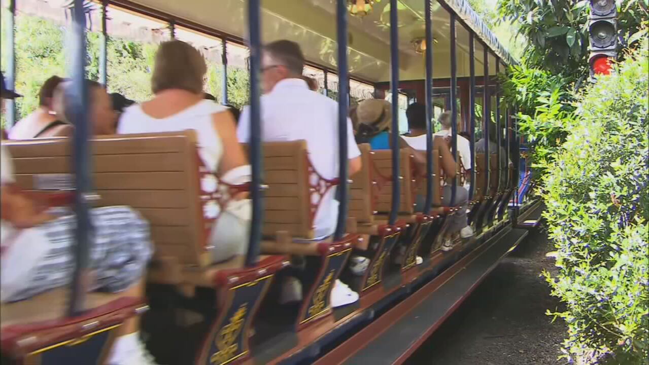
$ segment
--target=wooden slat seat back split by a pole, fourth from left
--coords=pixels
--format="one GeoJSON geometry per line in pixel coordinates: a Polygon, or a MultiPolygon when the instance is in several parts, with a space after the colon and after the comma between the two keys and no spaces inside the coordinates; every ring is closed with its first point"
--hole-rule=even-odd
{"type": "MultiPolygon", "coordinates": [[[[376,150],[373,151],[372,159],[376,173],[380,174],[386,180],[379,183],[378,198],[376,199],[376,211],[387,213],[391,209],[392,203],[392,151],[376,150]]],[[[399,176],[401,179],[400,186],[400,214],[413,214],[415,212],[415,183],[413,182],[413,157],[407,150],[401,150],[399,161],[399,176]]],[[[376,178],[374,179],[377,180],[376,178]]]]}

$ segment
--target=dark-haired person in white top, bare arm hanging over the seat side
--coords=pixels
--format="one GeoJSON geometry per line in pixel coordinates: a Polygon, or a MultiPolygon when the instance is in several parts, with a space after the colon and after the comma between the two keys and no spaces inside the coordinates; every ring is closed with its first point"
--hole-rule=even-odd
{"type": "MultiPolygon", "coordinates": [[[[444,114],[440,116],[440,119],[444,114]]],[[[408,106],[406,110],[406,117],[408,117],[408,128],[410,128],[410,137],[401,137],[410,147],[417,151],[426,150],[426,106],[424,104],[415,102],[408,106]]],[[[456,162],[453,155],[450,153],[450,143],[447,138],[441,135],[435,135],[433,140],[433,149],[437,150],[438,156],[442,157],[441,168],[447,178],[454,178],[456,175],[456,162]]],[[[415,158],[419,159],[420,165],[421,153],[415,154],[415,158]]],[[[425,158],[423,159],[425,161],[425,158]]],[[[452,193],[452,185],[445,183],[442,188],[441,204],[443,206],[450,206],[450,198],[452,193]]],[[[421,211],[425,196],[417,196],[417,209],[421,211]]],[[[458,213],[454,217],[450,232],[456,233],[459,231],[461,238],[468,238],[473,235],[471,226],[467,225],[467,204],[469,201],[469,191],[463,186],[456,187],[455,206],[460,206],[458,213]]],[[[451,250],[452,242],[445,241],[443,250],[451,250]]]]}

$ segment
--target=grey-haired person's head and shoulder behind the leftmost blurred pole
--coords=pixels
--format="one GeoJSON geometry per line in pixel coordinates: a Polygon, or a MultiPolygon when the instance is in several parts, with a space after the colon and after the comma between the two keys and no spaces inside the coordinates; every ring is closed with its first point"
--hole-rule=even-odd
{"type": "MultiPolygon", "coordinates": [[[[113,106],[113,98],[106,93],[106,89],[99,82],[86,80],[88,93],[90,94],[90,117],[88,122],[92,123],[93,135],[115,134],[117,128],[117,113],[113,106]]],[[[53,97],[53,108],[59,119],[64,122],[60,126],[51,128],[47,132],[48,137],[66,137],[74,132],[74,125],[69,122],[65,112],[66,88],[69,82],[63,82],[56,88],[53,97]]]]}

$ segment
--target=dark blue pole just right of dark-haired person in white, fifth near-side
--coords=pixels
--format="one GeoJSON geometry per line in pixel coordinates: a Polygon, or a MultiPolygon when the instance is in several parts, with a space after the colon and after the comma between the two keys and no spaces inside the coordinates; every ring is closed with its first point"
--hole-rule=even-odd
{"type": "Polygon", "coordinates": [[[430,212],[435,193],[433,191],[433,17],[430,1],[424,0],[424,18],[426,18],[426,202],[424,214],[430,212]]]}

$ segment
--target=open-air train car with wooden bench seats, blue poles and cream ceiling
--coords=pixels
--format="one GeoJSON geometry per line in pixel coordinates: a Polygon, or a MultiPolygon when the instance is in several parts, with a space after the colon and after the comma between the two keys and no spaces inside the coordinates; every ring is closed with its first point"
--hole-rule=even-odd
{"type": "MultiPolygon", "coordinates": [[[[15,10],[14,1],[28,0],[12,0],[15,10]]],[[[86,17],[79,16],[83,3],[73,1],[77,40],[86,28],[86,17]]],[[[197,163],[192,131],[89,139],[87,128],[77,128],[69,140],[3,142],[22,189],[47,190],[43,196],[54,202],[53,187],[38,182],[75,171],[77,188],[66,194],[75,197],[77,215],[83,217],[90,204],[132,206],[149,220],[156,247],[145,298],[89,294],[82,301],[83,293],[73,290],[67,316],[66,291],[3,304],[3,364],[103,364],[111,333],[130,316],[143,316],[147,347],[161,364],[400,364],[524,239],[527,232],[518,227],[537,214],[534,202],[519,204],[515,111],[502,108],[498,94],[496,75],[515,60],[466,1],[107,0],[99,6],[104,21],[114,8],[166,23],[170,36],[184,29],[250,47],[249,249],[226,263],[206,259],[204,227],[212,218],[204,207],[217,197],[202,190],[208,174],[197,163]],[[350,14],[351,6],[361,3],[371,12],[350,14]],[[260,45],[280,39],[302,46],[310,69],[322,75],[324,93],[330,89],[327,78],[339,80],[339,125],[347,121],[351,82],[371,86],[374,97],[393,102],[394,131],[400,130],[400,97],[426,104],[431,135],[424,168],[417,169],[398,143],[391,151],[361,145],[363,168],[349,181],[343,163],[336,182],[313,182],[304,141],[262,143],[255,76],[260,45]],[[458,133],[471,135],[471,165],[459,167],[457,178],[447,181],[469,189],[475,232],[456,239],[448,251],[441,245],[448,239],[448,217],[459,207],[439,204],[446,176],[432,150],[434,114],[445,110],[454,122],[456,161],[458,133]],[[489,151],[490,135],[502,148],[489,151]],[[487,151],[476,153],[481,138],[487,151]],[[90,158],[72,158],[83,154],[92,156],[92,171],[90,158]],[[343,203],[336,235],[293,242],[292,237],[313,235],[312,196],[322,193],[318,187],[332,185],[343,203]],[[419,211],[416,194],[426,196],[419,211]],[[525,213],[519,215],[521,207],[525,213]],[[352,253],[369,259],[361,276],[347,267],[352,253]],[[278,278],[292,255],[305,257],[304,298],[280,305],[278,278]],[[332,309],[329,294],[338,278],[360,300],[332,309]]],[[[70,55],[77,61],[72,66],[77,86],[84,75],[84,47],[78,48],[70,55]]],[[[106,80],[110,67],[103,64],[106,80]]],[[[346,128],[339,130],[345,141],[346,128]]],[[[393,134],[393,142],[397,137],[393,134]]],[[[341,148],[346,161],[343,145],[332,148],[341,148]]],[[[87,265],[83,252],[77,256],[80,266],[87,265]]]]}

